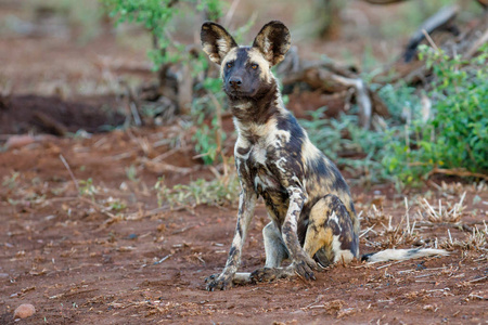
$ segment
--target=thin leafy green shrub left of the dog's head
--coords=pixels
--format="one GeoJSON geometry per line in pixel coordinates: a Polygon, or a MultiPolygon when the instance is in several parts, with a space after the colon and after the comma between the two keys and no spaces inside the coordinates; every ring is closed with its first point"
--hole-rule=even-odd
{"type": "MultiPolygon", "coordinates": [[[[181,63],[190,66],[192,76],[196,76],[208,67],[208,61],[203,52],[194,53],[188,51],[185,44],[178,43],[171,38],[174,20],[179,13],[205,12],[206,18],[217,20],[221,16],[221,0],[102,0],[110,11],[110,15],[116,18],[116,23],[139,24],[147,29],[153,38],[153,49],[147,52],[154,63],[154,68],[159,69],[167,63],[181,63]]],[[[220,91],[220,80],[206,78],[196,83],[195,91],[215,91],[217,84],[220,91]]],[[[195,151],[201,154],[205,164],[213,164],[219,154],[219,144],[224,140],[220,128],[220,116],[215,115],[215,101],[221,105],[221,98],[200,95],[192,103],[191,115],[196,125],[195,151]],[[205,122],[204,118],[214,116],[213,129],[205,122]]]]}

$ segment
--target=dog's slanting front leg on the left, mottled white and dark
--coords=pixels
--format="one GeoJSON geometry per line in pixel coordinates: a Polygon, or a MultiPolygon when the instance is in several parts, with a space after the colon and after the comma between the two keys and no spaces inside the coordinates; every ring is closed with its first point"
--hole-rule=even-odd
{"type": "Polygon", "coordinates": [[[243,190],[239,196],[237,224],[235,226],[234,238],[229,250],[226,268],[222,273],[215,274],[206,278],[207,290],[215,289],[224,290],[233,285],[235,272],[241,265],[241,253],[244,239],[247,235],[251,220],[254,217],[254,208],[256,207],[257,195],[253,190],[243,190]]]}

